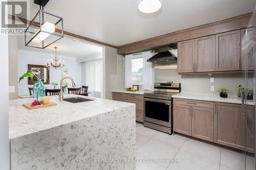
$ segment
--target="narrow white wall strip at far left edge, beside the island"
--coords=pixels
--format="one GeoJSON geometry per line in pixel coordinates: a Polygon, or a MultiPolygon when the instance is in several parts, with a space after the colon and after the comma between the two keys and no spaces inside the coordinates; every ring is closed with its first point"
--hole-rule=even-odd
{"type": "MultiPolygon", "coordinates": [[[[0,1],[1,3],[1,1],[0,1]]],[[[1,9],[1,5],[0,5],[1,9]]],[[[1,23],[1,21],[0,21],[1,23]]],[[[0,169],[10,169],[10,142],[8,121],[8,36],[0,35],[0,169]]]]}

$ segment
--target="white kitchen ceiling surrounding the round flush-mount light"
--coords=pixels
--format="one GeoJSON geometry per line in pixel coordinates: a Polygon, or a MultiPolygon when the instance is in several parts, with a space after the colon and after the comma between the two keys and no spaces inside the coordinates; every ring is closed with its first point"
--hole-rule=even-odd
{"type": "MultiPolygon", "coordinates": [[[[63,17],[65,31],[112,45],[203,25],[253,11],[255,0],[162,0],[160,13],[138,12],[139,0],[50,0],[45,11],[63,17]]],[[[31,18],[39,6],[30,0],[31,18]]]]}

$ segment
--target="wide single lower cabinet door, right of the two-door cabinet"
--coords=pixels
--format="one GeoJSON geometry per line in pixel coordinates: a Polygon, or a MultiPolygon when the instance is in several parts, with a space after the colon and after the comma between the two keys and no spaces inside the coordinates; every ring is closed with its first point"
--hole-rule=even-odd
{"type": "Polygon", "coordinates": [[[244,120],[241,114],[241,105],[216,103],[215,106],[214,141],[242,150],[244,120]]]}

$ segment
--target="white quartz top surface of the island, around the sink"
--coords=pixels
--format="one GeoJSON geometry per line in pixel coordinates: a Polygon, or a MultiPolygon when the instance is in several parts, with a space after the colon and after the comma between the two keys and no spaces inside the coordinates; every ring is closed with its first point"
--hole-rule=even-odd
{"type": "Polygon", "coordinates": [[[57,103],[57,106],[29,110],[23,106],[23,103],[31,103],[32,98],[9,100],[9,138],[28,135],[134,105],[75,94],[65,94],[64,98],[74,96],[92,99],[93,101],[81,103],[59,102],[58,95],[55,95],[49,97],[51,102],[57,103]]]}

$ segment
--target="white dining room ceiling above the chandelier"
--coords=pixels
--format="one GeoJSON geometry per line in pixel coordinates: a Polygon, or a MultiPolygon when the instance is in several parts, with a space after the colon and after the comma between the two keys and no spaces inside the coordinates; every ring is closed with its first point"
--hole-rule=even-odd
{"type": "Polygon", "coordinates": [[[84,41],[76,41],[77,39],[72,39],[68,36],[61,38],[60,40],[54,42],[53,44],[46,47],[44,50],[40,48],[33,48],[25,46],[24,36],[18,37],[18,48],[20,50],[28,50],[40,53],[55,54],[54,46],[57,46],[57,55],[63,55],[73,58],[83,58],[89,57],[91,55],[102,54],[102,47],[89,44],[84,41]]]}

